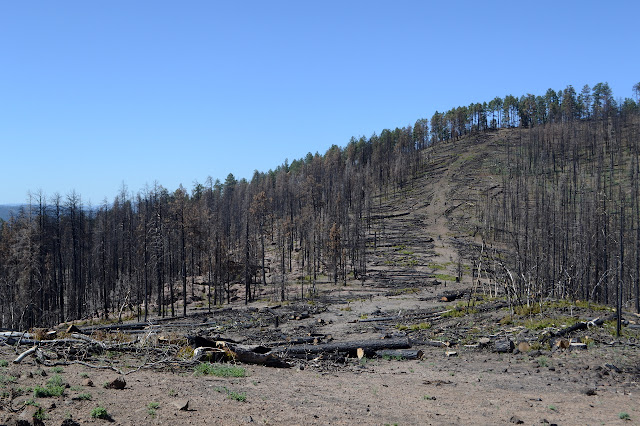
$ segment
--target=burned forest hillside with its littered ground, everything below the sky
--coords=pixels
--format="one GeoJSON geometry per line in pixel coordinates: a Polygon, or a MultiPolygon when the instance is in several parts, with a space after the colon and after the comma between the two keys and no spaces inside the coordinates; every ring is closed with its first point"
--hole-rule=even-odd
{"type": "Polygon", "coordinates": [[[90,388],[122,424],[637,420],[633,96],[496,97],[98,206],[31,193],[0,221],[0,411],[46,370],[68,386],[36,402],[87,422],[90,388]]]}

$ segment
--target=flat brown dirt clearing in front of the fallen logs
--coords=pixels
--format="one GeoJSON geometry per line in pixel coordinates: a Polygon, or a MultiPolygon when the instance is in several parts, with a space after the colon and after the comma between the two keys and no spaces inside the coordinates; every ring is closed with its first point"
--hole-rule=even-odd
{"type": "MultiPolygon", "coordinates": [[[[3,359],[12,355],[3,349],[3,359]]],[[[445,357],[443,350],[426,349],[421,361],[351,360],[292,369],[245,366],[247,375],[239,378],[196,377],[191,369],[140,370],[125,376],[122,390],[103,387],[116,373],[82,365],[58,373],[45,368],[43,377],[40,367],[29,361],[3,368],[3,376],[16,377],[15,385],[22,389],[62,376],[70,385],[64,396],[34,399],[46,410],[45,424],[55,425],[65,418],[105,423],[90,415],[97,406],[107,409],[113,424],[122,425],[639,424],[637,376],[601,367],[615,358],[625,368],[625,363],[637,362],[634,357],[634,351],[601,348],[588,354],[550,354],[541,366],[540,359],[523,354],[463,350],[458,357],[445,357]],[[94,387],[83,385],[87,376],[94,387]],[[91,400],[77,400],[87,393],[91,400]],[[189,408],[180,410],[185,400],[189,408]],[[630,420],[620,419],[620,413],[630,420]]],[[[32,397],[25,393],[12,407],[32,397]]],[[[3,409],[6,417],[9,407],[3,409]]]]}

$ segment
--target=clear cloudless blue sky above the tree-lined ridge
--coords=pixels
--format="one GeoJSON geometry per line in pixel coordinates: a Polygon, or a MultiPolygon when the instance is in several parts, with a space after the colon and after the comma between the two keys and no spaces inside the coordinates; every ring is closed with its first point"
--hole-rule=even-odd
{"type": "Polygon", "coordinates": [[[495,96],[640,81],[633,1],[0,2],[0,203],[251,179],[495,96]]]}

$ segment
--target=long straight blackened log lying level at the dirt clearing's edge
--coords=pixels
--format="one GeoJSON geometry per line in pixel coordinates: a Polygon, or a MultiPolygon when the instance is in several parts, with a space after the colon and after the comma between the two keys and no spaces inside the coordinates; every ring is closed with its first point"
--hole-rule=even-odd
{"type": "Polygon", "coordinates": [[[357,356],[358,348],[362,348],[365,353],[368,351],[375,352],[381,349],[408,349],[411,347],[411,341],[408,337],[396,337],[392,339],[380,340],[354,340],[351,342],[322,343],[319,345],[292,345],[288,347],[274,348],[274,353],[284,353],[285,355],[294,354],[321,354],[330,352],[344,352],[349,356],[357,356]]]}

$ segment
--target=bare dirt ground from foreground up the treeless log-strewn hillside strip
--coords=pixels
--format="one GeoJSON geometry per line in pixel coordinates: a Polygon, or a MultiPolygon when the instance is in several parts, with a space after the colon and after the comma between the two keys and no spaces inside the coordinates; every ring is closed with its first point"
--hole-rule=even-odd
{"type": "MultiPolygon", "coordinates": [[[[0,360],[7,361],[0,364],[0,422],[33,424],[37,406],[46,425],[640,424],[637,329],[615,338],[605,323],[563,336],[587,342],[585,348],[558,348],[554,333],[610,310],[558,302],[542,314],[505,321],[509,311],[500,295],[472,303],[468,267],[459,282],[455,277],[476,243],[470,194],[485,184],[467,180],[464,171],[483,167],[482,159],[441,149],[428,162],[406,193],[386,194],[376,207],[382,219],[372,229],[364,284],[327,280],[316,297],[300,300],[291,283],[288,301],[269,301],[264,288],[258,302],[210,312],[194,300],[187,318],[157,319],[131,332],[81,326],[92,338],[131,341],[135,350],[71,353],[42,345],[57,359],[42,364],[28,356],[13,364],[29,346],[0,346],[0,360]],[[445,292],[464,291],[463,303],[441,300],[445,292]],[[409,337],[423,356],[310,354],[286,357],[290,368],[238,364],[244,377],[196,375],[187,334],[268,347],[314,336],[320,343],[409,337]],[[495,343],[507,339],[530,347],[496,352],[495,343]],[[57,377],[66,385],[61,396],[36,396],[38,386],[57,377]],[[117,377],[124,377],[124,389],[104,386],[117,377]],[[92,417],[96,407],[109,417],[92,417]]],[[[630,325],[640,320],[625,318],[630,325]]]]}

